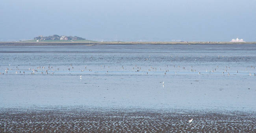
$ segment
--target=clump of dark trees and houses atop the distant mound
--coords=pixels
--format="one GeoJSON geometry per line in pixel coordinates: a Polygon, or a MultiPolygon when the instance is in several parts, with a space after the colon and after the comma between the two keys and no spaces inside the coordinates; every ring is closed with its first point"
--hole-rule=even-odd
{"type": "Polygon", "coordinates": [[[34,40],[37,42],[43,40],[50,40],[50,41],[75,41],[75,40],[86,40],[85,38],[81,38],[78,36],[59,36],[59,35],[52,35],[52,36],[38,36],[35,37],[34,40]]]}

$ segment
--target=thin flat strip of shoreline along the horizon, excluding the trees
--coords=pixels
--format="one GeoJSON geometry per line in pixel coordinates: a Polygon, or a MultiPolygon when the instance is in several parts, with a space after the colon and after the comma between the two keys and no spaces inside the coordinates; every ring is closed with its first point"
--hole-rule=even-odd
{"type": "Polygon", "coordinates": [[[165,41],[148,41],[148,42],[139,42],[139,41],[80,41],[80,42],[0,42],[0,46],[66,46],[66,45],[230,45],[230,44],[256,44],[256,42],[225,42],[225,41],[191,41],[191,42],[165,42],[165,41]]]}

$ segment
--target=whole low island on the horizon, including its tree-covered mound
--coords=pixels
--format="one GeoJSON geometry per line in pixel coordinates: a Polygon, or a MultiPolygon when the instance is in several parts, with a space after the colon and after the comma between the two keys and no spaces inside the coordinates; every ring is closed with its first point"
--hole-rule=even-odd
{"type": "Polygon", "coordinates": [[[229,45],[229,44],[256,44],[256,42],[245,42],[243,39],[232,39],[232,41],[92,41],[78,36],[37,36],[31,40],[0,42],[0,45],[229,45]]]}

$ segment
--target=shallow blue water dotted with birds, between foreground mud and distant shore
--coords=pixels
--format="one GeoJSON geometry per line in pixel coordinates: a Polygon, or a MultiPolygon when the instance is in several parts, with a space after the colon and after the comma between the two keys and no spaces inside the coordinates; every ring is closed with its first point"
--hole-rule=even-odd
{"type": "Polygon", "coordinates": [[[0,46],[0,107],[250,112],[255,66],[256,45],[0,46]]]}

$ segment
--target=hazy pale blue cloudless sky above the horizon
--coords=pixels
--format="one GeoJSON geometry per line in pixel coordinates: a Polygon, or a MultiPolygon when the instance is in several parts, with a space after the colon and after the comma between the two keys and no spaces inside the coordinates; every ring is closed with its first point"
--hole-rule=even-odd
{"type": "Polygon", "coordinates": [[[1,0],[0,41],[256,41],[256,0],[1,0]]]}

